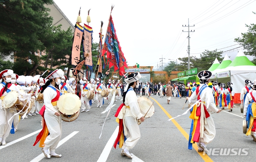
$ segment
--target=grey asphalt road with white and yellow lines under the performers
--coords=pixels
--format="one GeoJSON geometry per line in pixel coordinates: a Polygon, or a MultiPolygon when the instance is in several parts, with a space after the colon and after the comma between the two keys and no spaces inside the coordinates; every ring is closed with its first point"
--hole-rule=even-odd
{"type": "Polygon", "coordinates": [[[166,97],[151,96],[150,100],[155,101],[155,114],[139,126],[141,138],[130,150],[130,153],[134,155],[133,160],[122,157],[118,146],[117,149],[113,147],[115,133],[117,133],[115,130],[118,129],[114,114],[122,103],[121,100],[114,102],[116,105],[113,106],[107,118],[107,112],[101,114],[107,107],[108,102],[105,100],[102,108],[96,108],[96,104],[93,104],[89,112],[80,113],[75,121],[62,122],[62,145],[56,149],[57,154],[62,154],[61,158],[47,159],[42,155],[38,144],[33,146],[38,134],[36,131],[42,128],[41,116],[29,116],[20,121],[15,134],[9,135],[6,139],[7,145],[0,146],[0,160],[4,162],[235,162],[255,160],[256,143],[242,133],[242,120],[245,119],[241,117],[240,108],[234,108],[230,113],[222,111],[219,114],[212,114],[216,136],[213,142],[207,145],[207,149],[211,149],[210,154],[203,155],[197,152],[196,144],[193,150],[187,149],[191,125],[190,113],[167,121],[187,110],[188,103],[182,109],[186,99],[172,98],[169,105],[166,97]],[[101,139],[99,139],[105,118],[106,122],[101,139]],[[225,149],[228,155],[220,155],[225,149]]]}

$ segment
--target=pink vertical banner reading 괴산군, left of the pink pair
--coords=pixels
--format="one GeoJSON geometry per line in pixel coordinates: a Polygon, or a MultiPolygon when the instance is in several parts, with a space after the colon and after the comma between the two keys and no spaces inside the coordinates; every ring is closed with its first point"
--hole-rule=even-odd
{"type": "Polygon", "coordinates": [[[81,48],[83,30],[84,30],[83,27],[78,23],[76,23],[75,32],[74,32],[74,41],[73,41],[72,52],[71,52],[71,64],[73,66],[77,65],[80,60],[80,48],[81,48]]]}

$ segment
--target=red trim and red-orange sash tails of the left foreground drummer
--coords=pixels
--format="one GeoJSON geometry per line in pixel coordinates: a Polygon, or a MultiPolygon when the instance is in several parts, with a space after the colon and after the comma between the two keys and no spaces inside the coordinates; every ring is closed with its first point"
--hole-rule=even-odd
{"type": "MultiPolygon", "coordinates": [[[[51,87],[53,90],[55,90],[57,92],[56,97],[54,97],[54,99],[52,99],[51,102],[55,102],[59,99],[59,97],[62,95],[61,92],[57,91],[57,89],[55,89],[52,86],[48,86],[51,87]]],[[[44,111],[45,111],[46,107],[43,105],[42,109],[39,111],[39,114],[42,115],[43,117],[43,121],[42,121],[42,125],[43,125],[43,129],[41,132],[39,132],[39,134],[36,137],[36,141],[34,142],[33,146],[35,146],[39,141],[39,147],[43,147],[44,146],[44,141],[46,140],[46,137],[49,135],[49,131],[46,125],[46,121],[44,120],[44,111]]]]}

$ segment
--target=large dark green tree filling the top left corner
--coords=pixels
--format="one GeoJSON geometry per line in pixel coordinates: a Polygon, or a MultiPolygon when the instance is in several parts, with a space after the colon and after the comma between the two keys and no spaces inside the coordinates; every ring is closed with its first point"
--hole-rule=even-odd
{"type": "Polygon", "coordinates": [[[15,73],[30,75],[40,59],[34,53],[44,50],[42,40],[52,24],[49,8],[52,0],[2,0],[0,2],[0,53],[15,57],[15,73]],[[21,3],[22,2],[22,3],[21,3]],[[16,72],[16,70],[18,70],[16,72]]]}

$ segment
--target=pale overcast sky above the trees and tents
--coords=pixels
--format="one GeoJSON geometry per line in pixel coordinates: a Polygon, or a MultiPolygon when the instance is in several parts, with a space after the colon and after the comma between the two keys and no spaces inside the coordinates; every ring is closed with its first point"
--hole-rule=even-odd
{"type": "MultiPolygon", "coordinates": [[[[236,37],[241,37],[255,23],[256,0],[54,0],[68,19],[75,25],[81,6],[82,23],[86,23],[87,10],[91,8],[94,42],[98,42],[100,21],[106,34],[111,5],[112,18],[128,66],[154,66],[187,57],[188,18],[190,20],[190,53],[199,57],[204,50],[221,49],[233,60],[238,50],[236,37]]],[[[81,23],[81,24],[82,24],[81,23]]],[[[87,24],[87,23],[86,23],[87,24]]],[[[220,50],[218,50],[220,51],[220,50]]],[[[252,60],[252,57],[248,57],[252,60]]],[[[179,60],[177,60],[179,63],[179,60]]],[[[160,68],[161,69],[161,68],[160,68]]]]}

